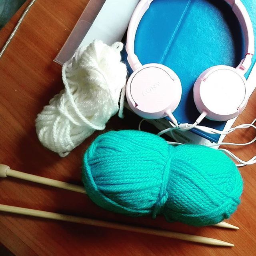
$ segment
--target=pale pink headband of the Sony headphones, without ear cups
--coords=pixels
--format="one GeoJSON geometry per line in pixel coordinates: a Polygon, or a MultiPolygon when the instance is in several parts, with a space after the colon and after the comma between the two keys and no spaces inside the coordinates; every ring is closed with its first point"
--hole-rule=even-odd
{"type": "MultiPolygon", "coordinates": [[[[252,21],[250,16],[241,2],[241,0],[224,0],[232,7],[232,10],[236,17],[238,18],[240,25],[242,27],[245,45],[246,45],[246,54],[245,58],[241,60],[238,68],[241,69],[244,73],[248,71],[252,64],[252,56],[254,55],[254,32],[252,27],[252,21]]],[[[127,32],[127,42],[126,42],[126,51],[128,53],[128,62],[133,71],[142,66],[138,57],[134,52],[134,41],[136,36],[136,31],[138,29],[138,25],[140,20],[144,16],[145,12],[150,7],[150,4],[153,0],[140,0],[137,7],[132,14],[132,18],[130,20],[130,24],[127,32]]]]}

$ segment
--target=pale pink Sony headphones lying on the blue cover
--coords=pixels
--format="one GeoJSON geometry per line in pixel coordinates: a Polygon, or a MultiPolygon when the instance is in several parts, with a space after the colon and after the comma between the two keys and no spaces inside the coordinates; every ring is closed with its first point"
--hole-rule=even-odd
{"type": "MultiPolygon", "coordinates": [[[[237,68],[214,66],[204,71],[194,84],[194,102],[202,118],[227,121],[238,116],[246,107],[248,95],[244,74],[252,64],[254,33],[250,16],[240,0],[225,0],[232,6],[244,32],[246,54],[237,68]]],[[[134,71],[126,86],[126,98],[132,110],[147,119],[169,116],[178,107],[182,96],[179,77],[162,64],[140,63],[134,53],[138,24],[153,0],[141,0],[128,27],[126,51],[134,71]]]]}

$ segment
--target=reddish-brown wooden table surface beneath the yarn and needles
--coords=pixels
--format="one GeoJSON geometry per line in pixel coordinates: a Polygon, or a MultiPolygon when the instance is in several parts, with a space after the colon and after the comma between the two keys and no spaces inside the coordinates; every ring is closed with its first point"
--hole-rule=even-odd
{"type": "MultiPolygon", "coordinates": [[[[60,158],[38,141],[36,115],[58,93],[62,85],[61,67],[53,62],[88,0],[37,0],[14,40],[0,59],[0,161],[13,169],[81,184],[81,159],[95,132],[68,157],[60,158]]],[[[12,31],[24,7],[0,32],[0,46],[12,31]]],[[[251,122],[256,116],[256,93],[236,124],[251,122]]],[[[112,118],[106,130],[136,128],[136,122],[112,118]]],[[[246,141],[252,132],[236,132],[228,140],[246,141]]],[[[249,159],[255,144],[233,150],[249,159]]],[[[230,223],[239,231],[220,228],[193,228],[168,224],[164,218],[128,218],[106,212],[87,196],[75,192],[21,182],[0,180],[0,204],[86,216],[126,224],[164,228],[232,242],[234,248],[217,248],[158,238],[150,235],[81,226],[37,218],[0,214],[0,243],[18,256],[113,256],[113,255],[256,255],[256,166],[241,169],[244,194],[230,223]]]]}

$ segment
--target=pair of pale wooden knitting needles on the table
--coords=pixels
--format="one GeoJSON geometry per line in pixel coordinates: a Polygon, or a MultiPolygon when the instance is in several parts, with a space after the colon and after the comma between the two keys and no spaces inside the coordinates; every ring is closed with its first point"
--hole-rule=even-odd
{"type": "MultiPolygon", "coordinates": [[[[32,174],[27,174],[24,172],[18,172],[16,170],[11,170],[9,166],[0,164],[0,178],[6,178],[8,176],[13,177],[13,178],[22,179],[22,180],[27,180],[30,182],[43,184],[43,185],[47,185],[47,186],[52,186],[55,188],[62,188],[65,190],[70,190],[70,191],[86,194],[86,191],[84,190],[84,188],[82,186],[77,186],[77,185],[69,184],[66,182],[61,182],[58,180],[52,180],[49,178],[44,178],[44,177],[40,177],[40,176],[36,176],[36,175],[32,175],[32,174]]],[[[152,228],[141,228],[141,227],[136,227],[136,226],[128,226],[128,225],[124,225],[124,224],[117,224],[117,223],[107,222],[107,221],[102,221],[102,220],[82,218],[82,217],[58,214],[58,213],[54,213],[54,212],[44,212],[44,211],[39,211],[39,210],[20,208],[20,207],[8,206],[8,205],[3,205],[3,204],[0,204],[0,212],[21,214],[21,215],[46,218],[46,219],[51,219],[51,220],[61,220],[61,221],[74,222],[74,223],[85,224],[85,225],[90,225],[90,226],[98,226],[98,227],[104,227],[104,228],[112,228],[112,229],[118,229],[118,230],[138,232],[138,233],[143,233],[143,234],[151,234],[151,235],[155,235],[155,236],[163,236],[163,237],[185,240],[185,241],[190,241],[190,242],[196,242],[196,243],[201,243],[201,244],[210,244],[210,245],[215,245],[215,246],[234,246],[234,244],[230,244],[228,242],[224,242],[224,241],[217,240],[214,238],[207,238],[207,237],[203,237],[203,236],[194,236],[194,235],[190,235],[190,234],[183,234],[183,233],[171,232],[171,231],[166,231],[166,230],[156,230],[156,229],[152,229],[152,228]]],[[[221,222],[214,226],[221,227],[221,228],[239,229],[238,227],[228,224],[226,222],[221,222]]]]}

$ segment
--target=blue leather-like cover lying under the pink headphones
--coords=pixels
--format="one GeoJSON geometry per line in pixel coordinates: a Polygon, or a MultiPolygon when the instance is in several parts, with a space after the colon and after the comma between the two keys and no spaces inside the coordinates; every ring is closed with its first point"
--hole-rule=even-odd
{"type": "MultiPolygon", "coordinates": [[[[242,2],[256,32],[256,0],[242,2]]],[[[200,115],[193,100],[198,76],[215,65],[236,67],[245,54],[236,16],[226,2],[215,0],[153,1],[138,27],[135,52],[142,64],[161,63],[178,74],[183,94],[174,116],[179,122],[190,124],[200,115]]],[[[201,124],[223,130],[226,123],[204,120],[201,124]]],[[[213,142],[220,137],[194,132],[213,142]]]]}

